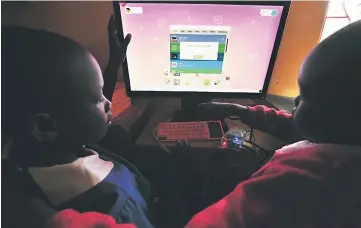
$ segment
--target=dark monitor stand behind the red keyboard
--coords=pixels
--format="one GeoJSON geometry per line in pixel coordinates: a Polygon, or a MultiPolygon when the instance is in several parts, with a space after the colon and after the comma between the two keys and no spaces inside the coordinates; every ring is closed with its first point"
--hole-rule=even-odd
{"type": "Polygon", "coordinates": [[[181,97],[181,108],[174,112],[172,122],[192,122],[200,120],[197,113],[198,104],[210,102],[211,100],[210,97],[201,96],[181,97]]]}

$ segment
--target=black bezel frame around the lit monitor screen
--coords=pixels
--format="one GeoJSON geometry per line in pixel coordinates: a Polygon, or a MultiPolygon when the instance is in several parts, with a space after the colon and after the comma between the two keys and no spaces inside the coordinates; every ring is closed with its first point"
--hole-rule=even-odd
{"type": "MultiPolygon", "coordinates": [[[[124,31],[121,19],[121,10],[119,3],[168,3],[168,4],[219,4],[219,5],[267,5],[267,6],[283,6],[280,23],[274,42],[270,63],[268,65],[265,82],[261,93],[244,93],[244,92],[196,92],[196,91],[132,91],[127,58],[123,63],[123,80],[125,83],[126,94],[128,97],[183,97],[183,96],[206,96],[214,98],[266,98],[272,72],[275,66],[277,54],[281,44],[283,32],[285,29],[291,1],[113,1],[114,17],[118,29],[119,39],[124,39],[124,31]]],[[[116,83],[116,82],[114,82],[116,83]]]]}

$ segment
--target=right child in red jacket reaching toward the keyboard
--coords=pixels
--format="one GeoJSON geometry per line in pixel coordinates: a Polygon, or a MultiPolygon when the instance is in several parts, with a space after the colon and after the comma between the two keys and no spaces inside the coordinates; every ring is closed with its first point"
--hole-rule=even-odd
{"type": "Polygon", "coordinates": [[[290,143],[187,228],[361,227],[361,21],[319,43],[298,78],[292,115],[263,106],[208,103],[290,143]],[[303,141],[300,141],[303,140],[303,141]]]}

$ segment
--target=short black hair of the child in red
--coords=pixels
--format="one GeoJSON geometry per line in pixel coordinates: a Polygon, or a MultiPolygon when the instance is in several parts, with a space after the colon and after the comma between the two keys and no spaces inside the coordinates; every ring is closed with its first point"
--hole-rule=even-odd
{"type": "Polygon", "coordinates": [[[361,88],[361,20],[320,42],[303,63],[308,69],[307,94],[312,100],[354,104],[361,88]],[[311,73],[310,73],[311,72],[311,73]]]}

